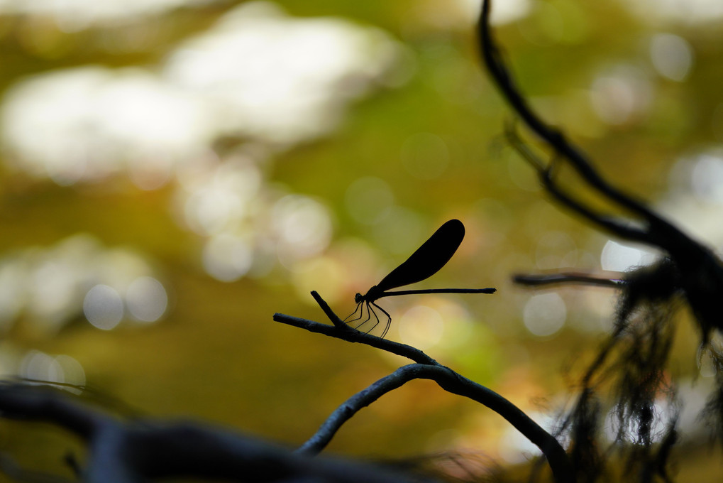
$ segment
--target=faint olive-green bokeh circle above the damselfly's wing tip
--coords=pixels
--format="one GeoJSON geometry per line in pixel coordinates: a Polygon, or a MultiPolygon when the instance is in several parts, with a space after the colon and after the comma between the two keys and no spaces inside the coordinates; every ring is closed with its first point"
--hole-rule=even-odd
{"type": "Polygon", "coordinates": [[[404,141],[401,159],[410,175],[420,180],[434,180],[447,169],[450,154],[447,143],[439,136],[416,133],[404,141]]]}

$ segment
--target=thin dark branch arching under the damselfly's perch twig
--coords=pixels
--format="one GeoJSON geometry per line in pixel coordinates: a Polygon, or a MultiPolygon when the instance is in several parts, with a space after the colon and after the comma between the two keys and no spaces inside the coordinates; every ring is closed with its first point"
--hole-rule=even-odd
{"type": "Polygon", "coordinates": [[[461,376],[445,366],[429,366],[427,364],[409,364],[402,366],[392,374],[382,377],[366,389],[357,392],[339,406],[319,430],[304,442],[297,452],[307,455],[320,453],[333,438],[341,426],[351,419],[361,408],[369,406],[382,395],[391,392],[413,379],[431,379],[443,390],[487,406],[495,413],[505,418],[523,436],[536,445],[547,458],[556,482],[573,482],[573,469],[568,455],[560,442],[551,434],[542,429],[535,421],[526,415],[520,408],[510,403],[497,392],[477,384],[471,379],[461,376]]]}

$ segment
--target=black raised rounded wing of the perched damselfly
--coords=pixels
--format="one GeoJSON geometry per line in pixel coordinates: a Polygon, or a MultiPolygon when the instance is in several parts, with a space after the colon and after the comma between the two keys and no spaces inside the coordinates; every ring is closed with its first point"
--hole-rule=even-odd
{"type": "Polygon", "coordinates": [[[401,287],[420,282],[445,266],[452,258],[464,238],[464,225],[458,219],[442,224],[429,240],[422,243],[403,264],[393,269],[390,274],[377,284],[381,292],[390,288],[401,287]]]}

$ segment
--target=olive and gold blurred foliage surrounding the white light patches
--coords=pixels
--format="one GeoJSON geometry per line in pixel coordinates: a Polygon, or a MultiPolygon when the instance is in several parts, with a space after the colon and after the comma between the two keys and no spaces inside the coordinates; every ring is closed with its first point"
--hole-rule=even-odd
{"type": "MultiPolygon", "coordinates": [[[[64,30],[50,14],[4,14],[0,89],[8,96],[28,76],[89,65],[160,72],[179,45],[241,3],[189,4],[76,30],[64,30]]],[[[30,350],[68,355],[82,365],[89,385],[143,413],[192,416],[296,445],[345,398],[403,361],[274,324],[272,314],[322,320],[307,295],[320,290],[346,316],[355,292],[374,285],[455,217],[466,224],[466,240],[424,287],[495,286],[498,293],[384,301],[393,316],[388,337],[399,339],[395,324],[409,308],[435,308],[445,317],[442,336],[422,337],[420,348],[535,419],[552,421],[549,415],[568,399],[570,374],[582,370],[578,363],[589,361],[612,327],[615,295],[557,290],[564,326],[538,336],[524,321],[535,294],[515,287],[510,275],[599,270],[607,238],[550,205],[528,167],[505,148],[500,133],[510,114],[479,68],[466,2],[277,3],[292,17],[343,17],[374,26],[401,48],[396,80],[375,85],[364,98],[340,101],[348,106],[328,133],[281,147],[226,133],[209,146],[218,159],[249,146],[263,151],[257,169],[264,196],[301,195],[322,206],[333,229],[328,245],[295,265],[274,259],[260,274],[215,280],[202,261],[207,237],[183,221],[179,182],[143,190],[121,169],[57,185],[19,168],[17,152],[6,149],[0,256],[30,256],[24,250],[40,253],[90,234],[100,246],[137,253],[163,282],[169,304],[155,324],[124,323],[111,331],[93,327],[82,312],[59,329],[39,330],[40,316],[27,309],[4,322],[0,368],[22,374],[30,350]],[[361,203],[391,193],[372,219],[355,215],[359,202],[349,194],[364,177],[375,178],[383,193],[361,203]]],[[[721,199],[701,198],[690,171],[696,156],[716,153],[723,141],[723,21],[679,20],[638,15],[624,2],[534,1],[529,14],[499,25],[497,37],[534,106],[586,148],[605,176],[719,247],[723,237],[709,225],[719,224],[721,199]],[[677,35],[694,54],[681,81],[651,64],[651,39],[662,33],[677,35]],[[610,114],[605,106],[618,111],[610,114]]],[[[45,133],[34,135],[39,145],[46,142],[45,133]]],[[[266,212],[261,201],[253,203],[266,212]]],[[[260,230],[262,223],[254,223],[249,230],[260,230]]],[[[691,325],[683,319],[677,332],[675,376],[698,380],[698,389],[690,390],[695,406],[704,400],[696,391],[712,374],[696,364],[695,338],[686,335],[691,325]]],[[[681,478],[699,472],[698,479],[711,479],[702,468],[715,457],[706,460],[704,448],[693,445],[703,431],[694,419],[690,430],[681,451],[696,463],[681,463],[681,478]]],[[[47,428],[0,424],[1,450],[26,466],[60,466],[59,447],[78,450],[58,437],[47,428]]],[[[330,449],[386,458],[458,448],[502,464],[520,463],[529,451],[494,414],[428,382],[403,387],[359,413],[330,449]]]]}

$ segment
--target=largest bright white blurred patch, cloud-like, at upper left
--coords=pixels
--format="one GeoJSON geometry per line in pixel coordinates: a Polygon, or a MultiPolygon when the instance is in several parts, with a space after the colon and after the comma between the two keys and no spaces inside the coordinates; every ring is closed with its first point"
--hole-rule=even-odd
{"type": "Polygon", "coordinates": [[[15,85],[0,112],[5,159],[59,185],[127,172],[159,188],[223,136],[284,148],[328,133],[402,51],[375,28],[249,2],[172,52],[161,74],[79,67],[15,85]]]}

